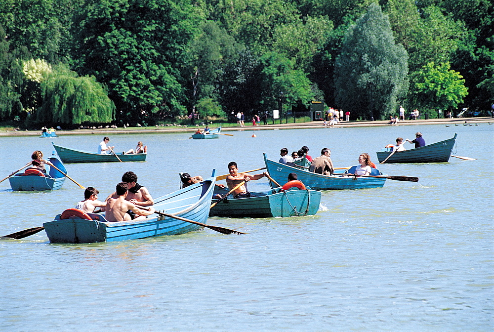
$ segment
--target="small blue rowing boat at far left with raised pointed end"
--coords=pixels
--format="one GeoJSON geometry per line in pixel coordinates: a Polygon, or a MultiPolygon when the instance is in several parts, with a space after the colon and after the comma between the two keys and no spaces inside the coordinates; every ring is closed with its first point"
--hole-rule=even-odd
{"type": "MultiPolygon", "coordinates": [[[[62,162],[53,155],[48,159],[55,167],[61,171],[67,173],[67,169],[63,166],[62,162]]],[[[8,178],[10,182],[10,188],[13,191],[45,191],[45,190],[57,190],[62,187],[65,182],[65,175],[55,169],[55,167],[49,167],[47,174],[41,172],[41,170],[33,170],[28,168],[23,173],[17,173],[8,178]],[[29,175],[28,175],[29,174],[29,175]]]]}

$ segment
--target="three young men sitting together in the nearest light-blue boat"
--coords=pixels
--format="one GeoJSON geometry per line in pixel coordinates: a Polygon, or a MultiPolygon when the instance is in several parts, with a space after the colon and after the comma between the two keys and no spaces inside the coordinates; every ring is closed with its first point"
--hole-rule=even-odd
{"type": "Polygon", "coordinates": [[[154,200],[146,187],[137,183],[137,175],[128,171],[117,184],[116,191],[104,202],[98,201],[99,191],[94,187],[84,190],[84,199],[75,208],[86,213],[105,211],[107,221],[130,221],[145,219],[155,212],[154,200]],[[99,207],[100,210],[96,210],[99,207]]]}

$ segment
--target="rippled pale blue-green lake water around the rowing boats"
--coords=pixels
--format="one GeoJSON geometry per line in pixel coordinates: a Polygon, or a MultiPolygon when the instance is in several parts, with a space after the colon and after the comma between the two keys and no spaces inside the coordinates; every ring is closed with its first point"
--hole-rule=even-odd
{"type": "MultiPolygon", "coordinates": [[[[209,218],[210,229],[119,243],[50,244],[44,232],[0,241],[1,331],[492,331],[494,328],[494,125],[417,125],[190,134],[108,135],[116,151],[148,146],[143,163],[68,164],[105,199],[134,171],[154,197],[175,191],[179,172],[209,176],[263,167],[262,153],[302,145],[333,164],[357,165],[396,137],[427,143],[458,133],[442,164],[381,165],[383,188],[323,192],[320,211],[292,218],[209,218]]],[[[0,177],[51,141],[96,151],[105,135],[0,138],[0,177]]],[[[407,148],[413,145],[406,143],[407,148]]],[[[267,188],[264,179],[251,190],[267,188]]],[[[70,180],[53,192],[0,184],[0,235],[41,226],[83,198],[70,180]]]]}

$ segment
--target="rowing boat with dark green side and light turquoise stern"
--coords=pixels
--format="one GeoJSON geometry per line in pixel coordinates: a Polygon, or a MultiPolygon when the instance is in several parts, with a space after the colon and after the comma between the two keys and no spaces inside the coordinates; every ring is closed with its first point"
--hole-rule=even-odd
{"type": "MultiPolygon", "coordinates": [[[[224,196],[227,188],[215,186],[214,194],[224,196]]],[[[299,190],[291,188],[284,191],[280,188],[265,193],[250,192],[248,198],[230,198],[219,202],[209,211],[210,216],[220,217],[291,217],[316,214],[321,203],[321,192],[316,190],[299,190]]],[[[217,202],[217,199],[212,203],[217,202]]]]}

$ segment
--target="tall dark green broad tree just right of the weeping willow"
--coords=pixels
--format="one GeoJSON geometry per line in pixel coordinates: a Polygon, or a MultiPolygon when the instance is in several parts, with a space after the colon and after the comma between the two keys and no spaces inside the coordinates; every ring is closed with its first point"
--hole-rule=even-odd
{"type": "Polygon", "coordinates": [[[180,70],[198,23],[186,0],[89,0],[76,24],[77,70],[108,85],[121,121],[185,113],[180,70]]]}

